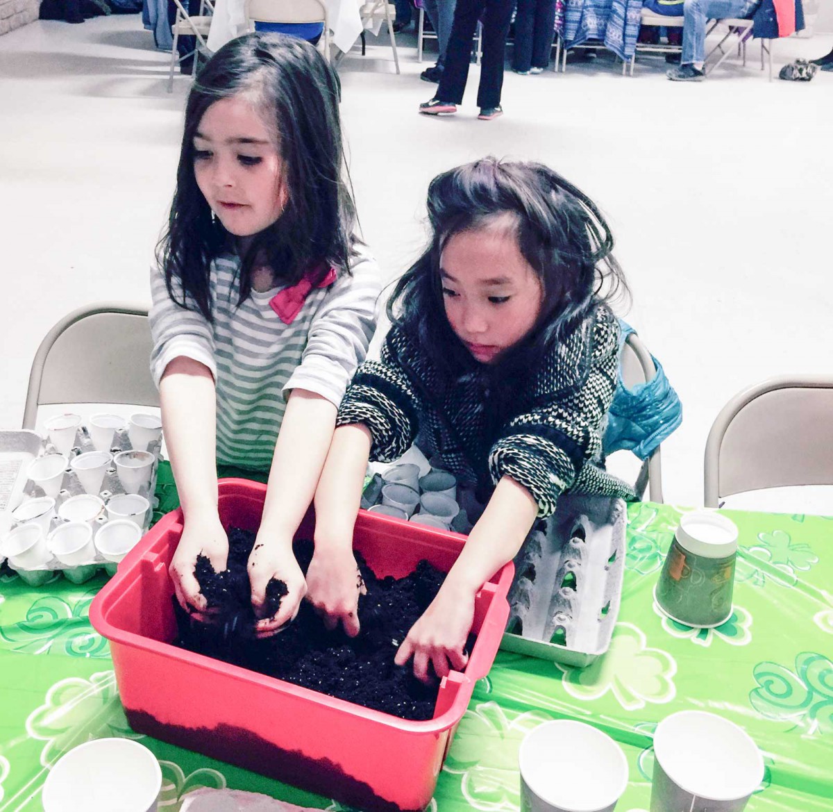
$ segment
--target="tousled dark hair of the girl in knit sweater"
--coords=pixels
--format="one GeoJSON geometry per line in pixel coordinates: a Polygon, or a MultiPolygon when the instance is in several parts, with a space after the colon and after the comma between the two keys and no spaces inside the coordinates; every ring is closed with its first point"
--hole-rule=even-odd
{"type": "Polygon", "coordinates": [[[402,275],[387,304],[392,323],[446,371],[471,367],[471,354],[451,331],[442,301],[440,256],[457,233],[506,218],[518,248],[543,287],[531,332],[496,365],[530,368],[600,301],[627,293],[613,237],[586,194],[541,163],[482,158],[437,175],[428,187],[431,243],[402,275]],[[508,217],[507,217],[508,215],[508,217]]]}

